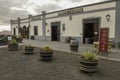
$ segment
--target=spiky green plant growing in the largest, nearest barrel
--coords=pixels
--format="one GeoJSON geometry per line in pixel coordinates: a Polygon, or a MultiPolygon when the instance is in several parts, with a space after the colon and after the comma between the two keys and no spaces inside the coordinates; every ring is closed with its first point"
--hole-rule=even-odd
{"type": "Polygon", "coordinates": [[[86,60],[98,60],[97,55],[96,55],[95,53],[93,53],[93,52],[90,52],[90,51],[85,52],[85,53],[82,55],[82,57],[83,57],[84,59],[86,59],[86,60]]]}

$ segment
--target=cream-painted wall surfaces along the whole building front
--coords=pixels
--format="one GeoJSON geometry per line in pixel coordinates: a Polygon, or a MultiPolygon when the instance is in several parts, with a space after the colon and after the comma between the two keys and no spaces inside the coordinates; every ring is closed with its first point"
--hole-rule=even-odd
{"type": "MultiPolygon", "coordinates": [[[[83,19],[88,18],[100,18],[100,27],[109,27],[109,37],[115,37],[115,10],[106,10],[99,11],[101,9],[113,8],[116,6],[116,2],[108,2],[103,4],[91,5],[91,6],[83,6],[83,12],[97,10],[96,12],[88,12],[83,14],[76,14],[72,16],[72,20],[69,20],[69,16],[57,17],[58,11],[49,13],[46,15],[46,36],[51,36],[51,23],[52,22],[61,22],[60,33],[61,36],[75,36],[82,37],[83,34],[83,19]],[[110,22],[107,22],[106,15],[111,15],[110,22]],[[51,17],[51,18],[50,18],[51,17]],[[54,18],[53,18],[54,17],[54,18]],[[65,24],[65,31],[62,31],[62,25],[65,24]]],[[[29,23],[21,23],[20,27],[23,26],[28,27],[29,23]]],[[[30,22],[30,35],[34,35],[34,26],[38,26],[38,36],[42,36],[42,20],[32,21],[30,22]]],[[[18,26],[17,24],[12,25],[12,34],[13,28],[18,26]]],[[[18,35],[18,29],[16,29],[16,34],[18,35]]]]}

